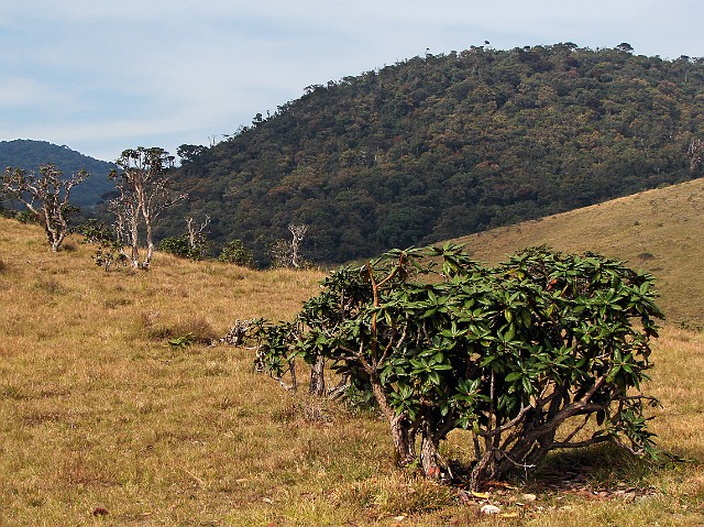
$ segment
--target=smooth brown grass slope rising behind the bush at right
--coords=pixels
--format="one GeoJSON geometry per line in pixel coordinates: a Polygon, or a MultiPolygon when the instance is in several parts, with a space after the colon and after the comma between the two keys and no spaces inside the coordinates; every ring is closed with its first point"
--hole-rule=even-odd
{"type": "Polygon", "coordinates": [[[671,323],[704,326],[704,179],[461,238],[480,261],[549,245],[594,251],[651,272],[671,323]]]}

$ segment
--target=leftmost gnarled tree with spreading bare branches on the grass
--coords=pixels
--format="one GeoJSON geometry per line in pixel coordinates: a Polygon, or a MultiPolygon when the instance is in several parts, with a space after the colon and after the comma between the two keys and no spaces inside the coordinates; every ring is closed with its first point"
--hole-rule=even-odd
{"type": "Polygon", "coordinates": [[[22,168],[8,167],[0,184],[1,194],[21,201],[44,227],[50,250],[54,253],[68,233],[70,189],[82,183],[88,173],[80,171],[67,179],[62,176],[54,164],[40,166],[38,176],[22,168]]]}

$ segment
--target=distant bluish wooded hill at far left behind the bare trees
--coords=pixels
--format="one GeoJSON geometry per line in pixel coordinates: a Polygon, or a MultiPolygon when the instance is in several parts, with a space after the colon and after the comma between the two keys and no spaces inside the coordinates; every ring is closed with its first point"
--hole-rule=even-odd
{"type": "Polygon", "coordinates": [[[68,146],[58,146],[46,141],[18,139],[0,141],[0,169],[8,166],[23,168],[38,174],[40,165],[54,163],[65,176],[85,169],[90,177],[74,187],[70,200],[79,207],[91,207],[100,200],[100,196],[114,189],[108,179],[108,173],[117,168],[112,163],[95,160],[80,154],[68,146]]]}

